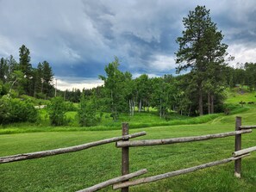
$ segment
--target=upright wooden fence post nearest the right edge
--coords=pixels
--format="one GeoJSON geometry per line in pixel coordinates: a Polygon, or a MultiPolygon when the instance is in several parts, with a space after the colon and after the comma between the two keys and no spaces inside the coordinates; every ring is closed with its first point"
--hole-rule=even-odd
{"type": "MultiPolygon", "coordinates": [[[[241,117],[235,118],[235,131],[240,131],[241,117]]],[[[237,134],[234,137],[234,151],[241,150],[241,134],[237,134]]],[[[241,158],[234,160],[234,177],[240,178],[241,171],[241,158]]]]}

